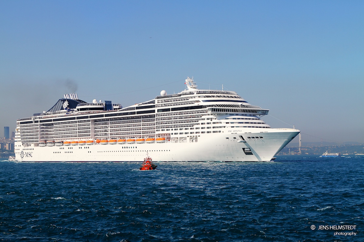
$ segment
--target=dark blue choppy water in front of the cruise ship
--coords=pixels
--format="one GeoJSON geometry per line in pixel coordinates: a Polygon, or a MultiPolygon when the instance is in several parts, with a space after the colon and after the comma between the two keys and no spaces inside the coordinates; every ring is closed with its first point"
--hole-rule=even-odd
{"type": "Polygon", "coordinates": [[[364,241],[363,157],[157,164],[1,161],[0,240],[364,241]]]}

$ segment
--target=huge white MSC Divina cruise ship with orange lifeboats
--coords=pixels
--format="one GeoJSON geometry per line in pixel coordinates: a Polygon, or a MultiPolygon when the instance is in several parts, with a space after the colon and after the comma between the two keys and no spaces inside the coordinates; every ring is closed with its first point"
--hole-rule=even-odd
{"type": "Polygon", "coordinates": [[[129,107],[66,94],[47,112],[17,120],[16,161],[270,161],[299,130],[271,128],[234,91],[200,90],[129,107]]]}

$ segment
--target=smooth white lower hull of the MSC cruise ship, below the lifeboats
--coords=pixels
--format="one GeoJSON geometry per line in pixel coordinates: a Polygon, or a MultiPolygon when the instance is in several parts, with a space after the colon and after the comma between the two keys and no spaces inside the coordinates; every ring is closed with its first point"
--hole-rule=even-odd
{"type": "MultiPolygon", "coordinates": [[[[248,130],[247,130],[248,131],[248,130]]],[[[16,155],[17,161],[143,161],[148,152],[154,161],[270,161],[299,131],[294,129],[250,129],[247,133],[224,133],[199,137],[198,142],[95,144],[87,146],[27,147],[16,155]],[[261,133],[264,132],[265,133],[261,133]],[[247,139],[247,136],[263,136],[247,139]],[[239,136],[244,137],[245,141],[239,136]],[[234,137],[236,139],[234,139],[234,137]],[[229,138],[229,139],[226,139],[229,138]],[[244,149],[251,152],[244,152],[244,149]]],[[[189,140],[187,140],[189,141],[189,140]]]]}

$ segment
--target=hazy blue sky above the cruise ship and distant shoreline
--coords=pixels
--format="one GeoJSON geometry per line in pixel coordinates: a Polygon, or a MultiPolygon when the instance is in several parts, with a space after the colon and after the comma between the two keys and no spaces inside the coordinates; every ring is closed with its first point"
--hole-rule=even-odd
{"type": "Polygon", "coordinates": [[[0,136],[66,93],[126,107],[187,76],[302,141],[364,143],[364,1],[0,1],[0,136]]]}

